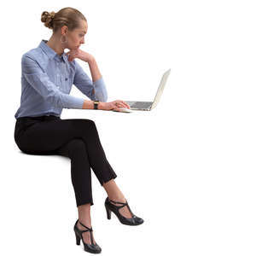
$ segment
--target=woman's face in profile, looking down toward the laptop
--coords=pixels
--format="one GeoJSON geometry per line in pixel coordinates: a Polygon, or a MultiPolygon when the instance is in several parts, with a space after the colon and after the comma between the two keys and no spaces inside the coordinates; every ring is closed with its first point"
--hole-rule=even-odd
{"type": "Polygon", "coordinates": [[[81,44],[84,44],[84,35],[87,33],[88,25],[85,20],[81,20],[79,28],[72,32],[67,31],[67,49],[78,49],[81,44]]]}

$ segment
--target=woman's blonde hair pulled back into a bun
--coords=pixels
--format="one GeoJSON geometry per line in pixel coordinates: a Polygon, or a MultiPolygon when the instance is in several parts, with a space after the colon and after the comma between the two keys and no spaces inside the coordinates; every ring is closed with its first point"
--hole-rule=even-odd
{"type": "Polygon", "coordinates": [[[41,15],[44,26],[52,29],[54,33],[62,26],[67,26],[68,30],[73,31],[75,28],[79,28],[81,20],[87,22],[84,15],[72,7],[60,9],[57,13],[44,11],[41,15]]]}

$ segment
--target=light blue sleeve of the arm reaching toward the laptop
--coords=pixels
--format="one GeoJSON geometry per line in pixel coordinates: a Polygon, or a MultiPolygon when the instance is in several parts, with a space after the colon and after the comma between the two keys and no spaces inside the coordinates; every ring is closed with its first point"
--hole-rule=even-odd
{"type": "Polygon", "coordinates": [[[21,68],[26,81],[45,101],[58,108],[83,108],[84,99],[61,92],[32,56],[22,55],[21,68]]]}

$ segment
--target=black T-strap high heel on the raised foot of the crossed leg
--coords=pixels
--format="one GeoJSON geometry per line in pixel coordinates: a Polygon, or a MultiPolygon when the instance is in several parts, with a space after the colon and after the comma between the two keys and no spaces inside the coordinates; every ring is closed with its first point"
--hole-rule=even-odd
{"type": "Polygon", "coordinates": [[[105,207],[106,207],[106,211],[107,211],[107,218],[110,219],[111,218],[111,212],[113,212],[117,218],[119,218],[119,221],[121,224],[125,224],[125,225],[131,225],[131,226],[135,226],[135,225],[139,225],[139,224],[143,224],[143,218],[139,218],[137,217],[136,215],[134,215],[132,212],[131,212],[131,208],[129,207],[128,205],[128,202],[126,201],[125,203],[124,202],[119,202],[119,201],[113,201],[114,203],[119,203],[121,204],[122,206],[118,207],[118,206],[115,206],[111,203],[111,201],[113,200],[110,200],[108,197],[106,198],[105,200],[105,207]],[[119,209],[122,208],[122,207],[125,207],[127,206],[131,212],[131,216],[132,218],[125,218],[120,212],[119,212],[119,209]]]}

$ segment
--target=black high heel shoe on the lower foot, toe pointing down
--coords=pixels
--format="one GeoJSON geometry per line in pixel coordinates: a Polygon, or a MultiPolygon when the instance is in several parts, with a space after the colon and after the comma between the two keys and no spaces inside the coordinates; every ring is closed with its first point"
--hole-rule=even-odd
{"type": "Polygon", "coordinates": [[[80,245],[80,240],[82,239],[82,241],[83,241],[83,243],[84,243],[84,251],[86,251],[86,252],[88,252],[88,253],[101,253],[102,252],[102,248],[101,247],[99,247],[98,245],[97,245],[97,243],[96,244],[94,244],[93,243],[93,240],[92,240],[92,228],[88,228],[88,227],[86,227],[84,224],[82,224],[80,221],[79,221],[79,219],[76,221],[76,223],[74,224],[74,227],[73,227],[73,230],[74,230],[74,232],[75,232],[75,235],[76,235],[76,241],[77,241],[77,245],[80,245]],[[84,228],[86,228],[87,230],[79,230],[79,228],[78,228],[78,226],[77,226],[77,224],[78,224],[78,222],[79,222],[79,224],[81,224],[84,228]],[[84,233],[84,232],[88,232],[88,231],[90,231],[90,242],[91,242],[91,244],[89,244],[89,243],[85,243],[84,242],[84,239],[83,239],[83,236],[82,236],[82,234],[84,233]]]}

